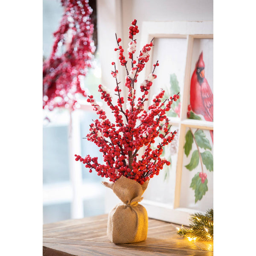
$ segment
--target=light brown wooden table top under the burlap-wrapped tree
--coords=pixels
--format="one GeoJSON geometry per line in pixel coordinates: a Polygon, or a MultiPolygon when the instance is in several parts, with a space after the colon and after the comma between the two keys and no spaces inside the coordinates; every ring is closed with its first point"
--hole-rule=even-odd
{"type": "Polygon", "coordinates": [[[44,256],[212,256],[213,243],[177,235],[180,225],[148,219],[148,238],[113,244],[107,237],[108,215],[60,221],[43,227],[44,256]]]}

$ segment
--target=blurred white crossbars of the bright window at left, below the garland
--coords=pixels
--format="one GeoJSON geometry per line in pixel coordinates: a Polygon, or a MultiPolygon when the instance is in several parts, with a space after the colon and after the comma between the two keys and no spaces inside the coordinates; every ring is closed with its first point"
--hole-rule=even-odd
{"type": "MultiPolygon", "coordinates": [[[[85,199],[97,196],[97,193],[91,191],[101,191],[102,185],[96,186],[95,184],[83,183],[82,179],[82,166],[75,161],[75,154],[81,155],[81,131],[80,131],[80,116],[86,112],[93,112],[93,107],[85,102],[80,103],[79,110],[70,113],[69,120],[61,120],[61,123],[52,120],[52,126],[68,125],[69,138],[68,138],[68,157],[69,157],[69,172],[70,180],[67,182],[56,182],[52,184],[43,184],[43,206],[55,205],[70,202],[71,203],[71,218],[84,218],[83,201],[85,199]]],[[[102,105],[101,102],[97,102],[102,105]]],[[[103,189],[102,189],[103,190],[103,189]]]]}

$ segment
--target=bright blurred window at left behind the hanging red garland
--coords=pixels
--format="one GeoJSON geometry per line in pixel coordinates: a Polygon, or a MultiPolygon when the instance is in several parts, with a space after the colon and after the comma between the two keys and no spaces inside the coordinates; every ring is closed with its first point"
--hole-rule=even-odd
{"type": "MultiPolygon", "coordinates": [[[[101,67],[97,50],[96,1],[90,1],[90,6],[93,8],[91,17],[94,23],[93,40],[96,52],[93,69],[88,70],[81,86],[99,102],[101,99],[97,91],[101,83],[101,67]]],[[[64,7],[61,6],[60,0],[43,0],[44,59],[49,58],[52,52],[52,34],[58,29],[63,14],[64,7]]],[[[83,139],[89,132],[92,119],[96,119],[97,115],[84,99],[80,99],[79,103],[81,108],[71,113],[72,127],[69,109],[55,108],[53,111],[43,111],[44,224],[104,213],[101,177],[85,171],[84,165],[76,162],[73,154],[75,148],[76,154],[91,154],[99,157],[99,161],[102,158],[97,146],[83,139]]]]}

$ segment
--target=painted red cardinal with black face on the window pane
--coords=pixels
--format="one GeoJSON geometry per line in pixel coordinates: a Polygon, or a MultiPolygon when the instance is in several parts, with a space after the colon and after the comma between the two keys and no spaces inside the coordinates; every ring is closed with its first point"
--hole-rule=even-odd
{"type": "MultiPolygon", "coordinates": [[[[204,77],[204,60],[201,52],[195,65],[190,84],[190,105],[192,111],[204,116],[206,121],[213,121],[213,94],[204,77]]],[[[213,142],[213,131],[210,131],[213,142]]]]}

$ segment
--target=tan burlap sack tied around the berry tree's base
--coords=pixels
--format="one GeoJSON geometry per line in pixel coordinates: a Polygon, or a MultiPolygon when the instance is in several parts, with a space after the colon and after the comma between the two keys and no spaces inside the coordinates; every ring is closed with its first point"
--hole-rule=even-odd
{"type": "Polygon", "coordinates": [[[140,185],[124,176],[115,183],[102,182],[118,196],[117,204],[108,214],[108,239],[115,244],[131,244],[144,241],[148,234],[148,214],[139,202],[143,199],[148,180],[140,185]]]}

